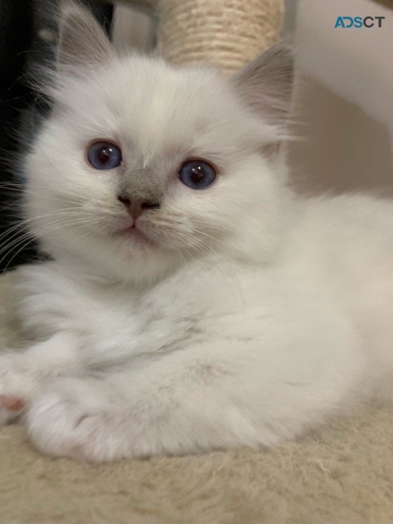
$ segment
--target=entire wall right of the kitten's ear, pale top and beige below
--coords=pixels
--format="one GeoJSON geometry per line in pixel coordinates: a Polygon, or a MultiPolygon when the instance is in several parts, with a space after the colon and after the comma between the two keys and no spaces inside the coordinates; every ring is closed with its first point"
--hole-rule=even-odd
{"type": "Polygon", "coordinates": [[[299,185],[392,192],[393,11],[370,0],[298,0],[296,18],[299,185]],[[385,19],[382,28],[343,29],[338,16],[385,19]]]}

